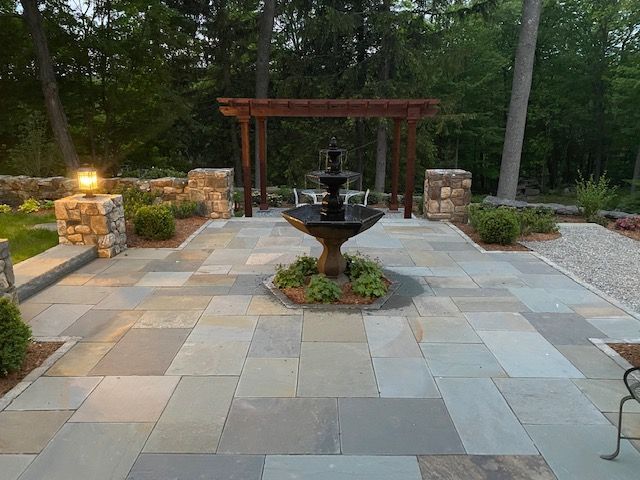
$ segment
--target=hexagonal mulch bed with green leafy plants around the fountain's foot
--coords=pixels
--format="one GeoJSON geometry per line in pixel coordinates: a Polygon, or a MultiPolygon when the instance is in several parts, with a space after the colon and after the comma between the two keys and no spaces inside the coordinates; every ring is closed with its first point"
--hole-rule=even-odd
{"type": "Polygon", "coordinates": [[[266,287],[289,308],[379,309],[393,294],[397,283],[387,279],[374,260],[347,255],[347,278],[336,282],[317,272],[317,260],[302,256],[265,281],[266,287]],[[368,280],[368,281],[367,281],[368,280]],[[363,291],[363,281],[370,286],[363,291]],[[360,290],[360,293],[355,290],[360,290]]]}

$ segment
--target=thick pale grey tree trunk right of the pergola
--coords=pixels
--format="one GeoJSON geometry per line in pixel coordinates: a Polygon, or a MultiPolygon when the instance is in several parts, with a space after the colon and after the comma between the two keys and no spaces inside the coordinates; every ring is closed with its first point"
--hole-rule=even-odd
{"type": "Polygon", "coordinates": [[[498,197],[515,199],[520,174],[520,157],[524,129],[527,123],[527,105],[531,92],[533,78],[533,60],[536,53],[538,38],[538,24],[542,0],[524,0],[522,8],[522,23],[518,37],[518,48],[511,86],[511,101],[509,115],[504,135],[502,149],[502,163],[500,165],[500,180],[498,182],[498,197]]]}

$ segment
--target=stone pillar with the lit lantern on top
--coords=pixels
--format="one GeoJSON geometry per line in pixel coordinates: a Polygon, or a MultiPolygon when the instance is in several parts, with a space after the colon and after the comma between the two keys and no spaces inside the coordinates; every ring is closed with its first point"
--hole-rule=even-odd
{"type": "Polygon", "coordinates": [[[61,244],[97,245],[103,258],[127,248],[122,195],[72,195],[56,200],[55,211],[61,244]]]}

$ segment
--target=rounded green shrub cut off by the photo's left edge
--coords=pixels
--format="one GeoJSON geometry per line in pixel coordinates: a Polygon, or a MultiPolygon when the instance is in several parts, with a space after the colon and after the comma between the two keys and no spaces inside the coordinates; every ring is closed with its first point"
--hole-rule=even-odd
{"type": "Polygon", "coordinates": [[[8,298],[0,298],[0,376],[19,370],[27,354],[31,328],[8,298]]]}

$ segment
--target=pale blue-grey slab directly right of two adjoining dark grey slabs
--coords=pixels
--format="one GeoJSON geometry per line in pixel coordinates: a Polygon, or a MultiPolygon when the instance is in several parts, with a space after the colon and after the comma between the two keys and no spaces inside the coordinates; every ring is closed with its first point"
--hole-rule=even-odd
{"type": "Polygon", "coordinates": [[[538,453],[491,379],[439,378],[437,383],[467,453],[538,453]]]}

